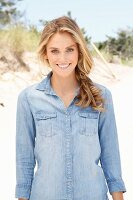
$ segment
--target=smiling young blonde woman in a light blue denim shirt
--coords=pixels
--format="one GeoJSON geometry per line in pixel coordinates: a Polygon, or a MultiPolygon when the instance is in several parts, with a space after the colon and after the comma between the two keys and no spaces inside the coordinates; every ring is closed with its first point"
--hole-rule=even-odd
{"type": "Polygon", "coordinates": [[[51,72],[18,98],[16,198],[107,200],[109,189],[123,200],[112,97],[88,78],[93,60],[76,22],[49,22],[39,55],[51,72]]]}

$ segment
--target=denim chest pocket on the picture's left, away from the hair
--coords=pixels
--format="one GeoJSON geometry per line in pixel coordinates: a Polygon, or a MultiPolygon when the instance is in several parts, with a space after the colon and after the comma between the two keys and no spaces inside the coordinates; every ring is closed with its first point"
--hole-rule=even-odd
{"type": "Polygon", "coordinates": [[[36,130],[45,137],[51,137],[57,134],[57,114],[39,112],[35,115],[36,130]]]}

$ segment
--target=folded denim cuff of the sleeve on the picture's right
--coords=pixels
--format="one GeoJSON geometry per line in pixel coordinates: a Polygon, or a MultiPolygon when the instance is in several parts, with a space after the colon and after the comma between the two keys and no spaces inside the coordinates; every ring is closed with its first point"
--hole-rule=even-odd
{"type": "Polygon", "coordinates": [[[122,179],[115,181],[108,181],[108,188],[110,194],[112,192],[126,192],[125,184],[122,179]]]}

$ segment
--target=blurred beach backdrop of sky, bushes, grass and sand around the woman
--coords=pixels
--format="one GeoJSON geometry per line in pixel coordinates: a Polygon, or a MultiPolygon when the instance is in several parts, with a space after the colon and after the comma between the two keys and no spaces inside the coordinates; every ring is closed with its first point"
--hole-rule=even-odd
{"type": "MultiPolygon", "coordinates": [[[[37,56],[41,31],[75,19],[94,58],[90,77],[113,95],[125,200],[133,177],[133,1],[0,0],[0,199],[15,200],[15,121],[19,92],[49,72],[37,56]]],[[[111,199],[111,197],[110,197],[111,199]]]]}

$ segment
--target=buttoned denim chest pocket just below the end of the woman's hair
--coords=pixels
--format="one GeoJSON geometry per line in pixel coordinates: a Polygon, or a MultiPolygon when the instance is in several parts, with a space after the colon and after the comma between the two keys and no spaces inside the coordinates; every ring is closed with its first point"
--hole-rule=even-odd
{"type": "Polygon", "coordinates": [[[98,112],[80,112],[79,132],[82,135],[93,136],[98,132],[98,112]]]}

